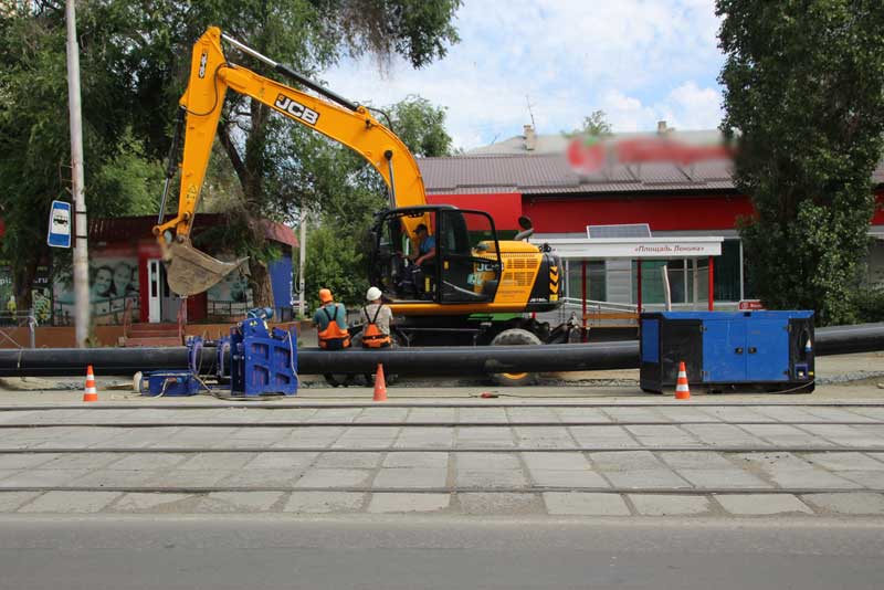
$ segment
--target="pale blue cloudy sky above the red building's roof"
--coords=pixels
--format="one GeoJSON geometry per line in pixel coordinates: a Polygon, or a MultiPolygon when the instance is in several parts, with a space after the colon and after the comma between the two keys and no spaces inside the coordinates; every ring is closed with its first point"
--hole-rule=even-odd
{"type": "Polygon", "coordinates": [[[464,0],[461,42],[422,70],[347,60],[323,78],[360,103],[420,95],[454,147],[570,131],[604,110],[614,131],[711,129],[722,117],[714,0],[464,0]],[[530,113],[529,113],[530,105],[530,113]]]}

